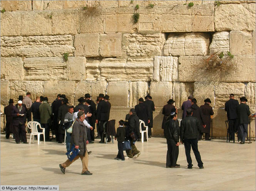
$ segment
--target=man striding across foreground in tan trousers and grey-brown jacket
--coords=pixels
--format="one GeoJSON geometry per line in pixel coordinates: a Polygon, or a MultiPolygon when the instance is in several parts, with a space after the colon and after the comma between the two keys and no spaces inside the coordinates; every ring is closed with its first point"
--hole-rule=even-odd
{"type": "Polygon", "coordinates": [[[86,134],[86,127],[83,123],[85,119],[84,112],[80,111],[77,114],[77,119],[74,122],[73,130],[72,130],[72,138],[71,138],[71,145],[75,145],[76,149],[79,149],[79,153],[75,158],[70,161],[69,159],[65,161],[65,163],[59,164],[60,170],[63,174],[65,174],[65,169],[71,165],[74,161],[81,158],[83,170],[82,175],[92,175],[88,170],[88,153],[86,149],[86,144],[88,144],[87,134],[86,134]]]}

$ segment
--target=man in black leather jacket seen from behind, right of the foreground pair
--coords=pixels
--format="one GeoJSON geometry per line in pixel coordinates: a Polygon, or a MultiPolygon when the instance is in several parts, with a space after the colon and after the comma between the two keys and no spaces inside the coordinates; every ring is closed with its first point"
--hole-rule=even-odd
{"type": "Polygon", "coordinates": [[[196,157],[197,165],[199,168],[204,168],[200,153],[197,147],[197,138],[200,130],[200,122],[196,117],[192,117],[192,109],[188,108],[186,110],[187,117],[181,120],[181,143],[184,143],[185,153],[187,157],[187,168],[192,169],[192,159],[190,156],[190,150],[194,152],[196,157]]]}

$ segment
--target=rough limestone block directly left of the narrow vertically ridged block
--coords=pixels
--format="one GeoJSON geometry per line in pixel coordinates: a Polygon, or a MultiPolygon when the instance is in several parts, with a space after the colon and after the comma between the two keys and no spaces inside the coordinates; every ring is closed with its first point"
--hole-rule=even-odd
{"type": "Polygon", "coordinates": [[[125,64],[125,79],[128,81],[151,81],[153,78],[153,59],[128,59],[125,64]]]}

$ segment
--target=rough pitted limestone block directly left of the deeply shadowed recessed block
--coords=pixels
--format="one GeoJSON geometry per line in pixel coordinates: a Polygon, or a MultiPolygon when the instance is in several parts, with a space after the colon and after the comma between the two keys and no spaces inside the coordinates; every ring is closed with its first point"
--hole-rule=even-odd
{"type": "Polygon", "coordinates": [[[163,33],[124,34],[123,52],[127,56],[161,56],[165,42],[163,33]]]}

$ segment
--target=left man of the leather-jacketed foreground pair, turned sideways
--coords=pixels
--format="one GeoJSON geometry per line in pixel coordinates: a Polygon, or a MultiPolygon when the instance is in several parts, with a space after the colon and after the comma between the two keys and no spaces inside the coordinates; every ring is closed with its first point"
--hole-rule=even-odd
{"type": "Polygon", "coordinates": [[[167,140],[166,168],[180,168],[177,159],[179,155],[179,123],[177,113],[172,112],[164,126],[164,136],[167,140]]]}

